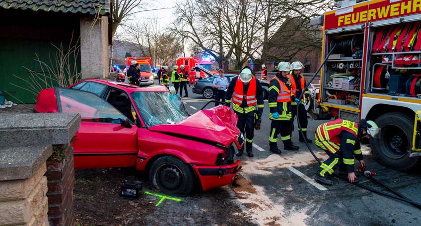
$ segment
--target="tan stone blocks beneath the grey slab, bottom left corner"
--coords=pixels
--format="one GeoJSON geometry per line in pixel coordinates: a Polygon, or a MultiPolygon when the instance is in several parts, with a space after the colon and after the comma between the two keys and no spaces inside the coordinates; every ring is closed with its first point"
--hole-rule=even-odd
{"type": "Polygon", "coordinates": [[[46,164],[33,177],[24,180],[1,181],[0,226],[48,226],[46,164]]]}

